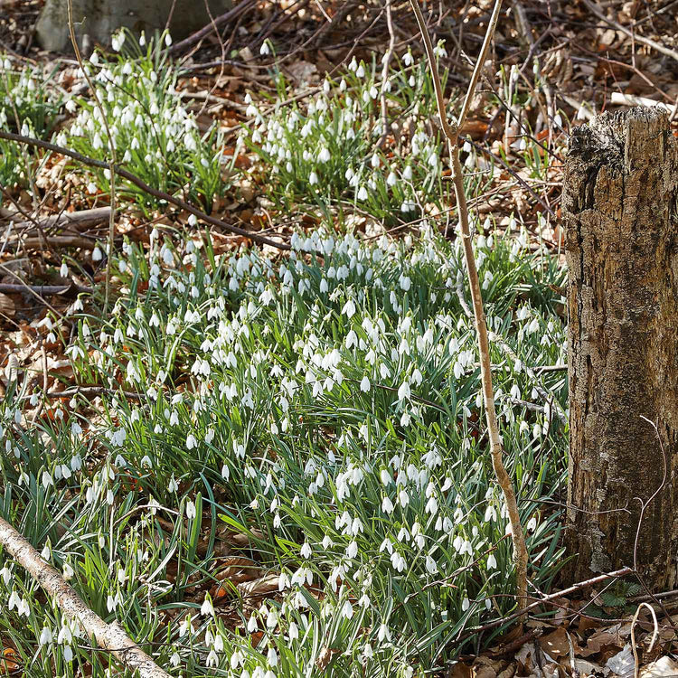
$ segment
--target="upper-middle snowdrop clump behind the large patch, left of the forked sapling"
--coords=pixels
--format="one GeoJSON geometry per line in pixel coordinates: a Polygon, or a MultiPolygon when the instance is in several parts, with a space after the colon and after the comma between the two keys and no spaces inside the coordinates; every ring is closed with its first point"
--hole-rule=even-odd
{"type": "MultiPolygon", "coordinates": [[[[267,116],[248,96],[251,124],[244,138],[268,176],[268,198],[286,207],[306,202],[324,212],[353,206],[389,226],[444,209],[443,144],[426,131],[432,86],[410,52],[405,57],[385,82],[376,64],[353,59],[340,79],[325,80],[314,99],[267,116]],[[406,146],[392,139],[383,144],[389,129],[381,119],[381,92],[391,111],[409,116],[407,130],[402,123],[391,130],[408,139],[406,146]]],[[[279,100],[288,98],[282,74],[278,90],[279,100]]]]}

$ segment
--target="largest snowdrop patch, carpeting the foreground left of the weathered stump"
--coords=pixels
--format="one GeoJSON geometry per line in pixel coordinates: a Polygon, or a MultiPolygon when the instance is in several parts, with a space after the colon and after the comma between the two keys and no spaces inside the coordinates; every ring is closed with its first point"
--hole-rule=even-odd
{"type": "MultiPolygon", "coordinates": [[[[517,356],[494,346],[540,586],[559,563],[558,513],[540,500],[560,485],[565,438],[549,410],[515,400],[539,398],[525,366],[562,362],[565,335],[548,287],[560,274],[517,242],[488,235],[477,248],[490,327],[517,356]],[[526,285],[535,276],[544,284],[526,285]]],[[[28,432],[22,410],[40,391],[2,406],[12,518],[173,674],[443,667],[448,638],[510,606],[513,570],[460,251],[431,233],[370,243],[318,230],[292,244],[276,260],[157,231],[144,253],[127,245],[113,315],[75,311],[73,369],[109,387],[98,410],[79,396],[47,402],[52,417],[28,432]],[[273,590],[219,594],[222,540],[275,576],[273,590]],[[223,614],[233,605],[240,621],[223,614]],[[171,611],[162,623],[160,609],[171,611]]],[[[548,379],[564,402],[562,377],[548,379]]],[[[35,675],[52,661],[58,674],[84,661],[103,672],[108,660],[82,649],[57,608],[34,606],[33,590],[0,559],[0,629],[40,647],[35,675]]]]}

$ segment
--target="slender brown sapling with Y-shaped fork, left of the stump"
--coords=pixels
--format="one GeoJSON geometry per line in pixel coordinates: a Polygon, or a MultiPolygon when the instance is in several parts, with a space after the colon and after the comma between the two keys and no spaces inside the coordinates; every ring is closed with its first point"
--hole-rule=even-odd
{"type": "Polygon", "coordinates": [[[476,90],[480,72],[485,64],[487,52],[489,51],[494,28],[499,17],[499,11],[502,6],[502,0],[496,0],[494,9],[487,25],[485,41],[480,51],[476,68],[471,76],[471,82],[466,91],[466,98],[461,109],[457,123],[450,125],[447,122],[447,112],[445,101],[443,99],[442,86],[438,75],[438,68],[433,56],[433,47],[424,17],[419,9],[418,0],[410,0],[414,14],[417,16],[419,30],[426,45],[428,56],[428,65],[436,90],[436,99],[438,101],[438,116],[440,124],[443,127],[447,144],[449,147],[450,163],[452,165],[452,181],[455,186],[455,195],[457,196],[457,212],[459,213],[459,229],[461,231],[461,240],[464,248],[464,259],[466,261],[466,272],[468,274],[468,285],[471,289],[471,301],[473,305],[473,315],[476,324],[476,334],[478,339],[478,352],[480,354],[480,379],[483,388],[483,401],[485,402],[485,417],[487,420],[487,433],[490,438],[490,452],[492,455],[492,466],[494,475],[504,493],[504,502],[508,511],[509,525],[511,526],[511,536],[513,540],[513,565],[515,567],[515,596],[518,609],[523,609],[527,604],[527,547],[525,545],[525,535],[523,526],[520,522],[518,513],[518,503],[513,489],[511,477],[506,472],[504,461],[502,459],[504,447],[502,438],[499,435],[499,426],[496,419],[496,410],[494,409],[494,388],[492,385],[492,363],[490,361],[490,342],[487,334],[487,323],[485,321],[485,311],[483,310],[483,296],[480,291],[480,281],[478,280],[478,270],[476,268],[476,258],[473,253],[473,243],[471,241],[471,230],[468,222],[468,205],[466,204],[466,193],[464,193],[464,176],[461,163],[459,162],[458,130],[464,124],[470,101],[476,90]]]}

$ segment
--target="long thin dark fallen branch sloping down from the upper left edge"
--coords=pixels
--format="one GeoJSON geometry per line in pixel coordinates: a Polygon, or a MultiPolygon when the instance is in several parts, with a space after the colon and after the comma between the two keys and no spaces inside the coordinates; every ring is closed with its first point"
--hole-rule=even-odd
{"type": "MultiPolygon", "coordinates": [[[[57,146],[56,144],[50,144],[48,141],[42,141],[42,139],[34,139],[33,137],[24,137],[24,135],[21,134],[5,132],[5,130],[3,129],[0,129],[0,139],[6,139],[7,141],[14,141],[18,144],[26,144],[27,146],[34,146],[35,148],[43,148],[46,151],[52,151],[52,153],[66,155],[68,157],[73,158],[73,160],[77,160],[79,163],[82,163],[82,165],[88,165],[89,167],[98,167],[99,169],[104,170],[110,169],[110,165],[108,165],[108,163],[104,163],[101,160],[96,160],[95,158],[89,157],[88,155],[82,155],[77,151],[71,151],[70,148],[64,148],[63,146],[57,146]]],[[[148,195],[153,195],[153,197],[157,198],[158,200],[165,200],[166,202],[173,204],[175,207],[178,207],[182,210],[185,210],[186,212],[193,214],[198,219],[212,224],[212,226],[218,226],[219,228],[224,229],[225,231],[235,233],[236,235],[240,235],[243,238],[249,238],[250,240],[259,242],[260,245],[268,245],[269,247],[274,247],[278,250],[291,250],[291,247],[285,242],[276,242],[275,240],[269,240],[268,238],[265,238],[264,236],[259,235],[258,233],[252,233],[250,231],[240,229],[237,226],[231,225],[230,223],[221,221],[221,219],[216,219],[215,217],[212,217],[209,214],[205,214],[205,212],[202,212],[202,210],[199,210],[197,207],[193,207],[193,205],[189,204],[188,202],[184,202],[183,200],[174,197],[174,195],[165,193],[165,191],[158,191],[156,188],[149,186],[148,184],[146,184],[146,182],[139,179],[139,177],[136,174],[127,172],[127,170],[120,167],[120,165],[114,165],[113,170],[116,174],[118,174],[118,176],[121,176],[123,179],[127,179],[127,181],[130,184],[134,184],[135,186],[137,186],[137,188],[140,188],[144,193],[148,193],[148,195]]]]}

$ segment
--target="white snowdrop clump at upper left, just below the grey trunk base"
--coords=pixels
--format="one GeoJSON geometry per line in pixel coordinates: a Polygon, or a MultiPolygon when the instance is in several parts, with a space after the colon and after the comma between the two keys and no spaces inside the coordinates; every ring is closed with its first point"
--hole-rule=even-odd
{"type": "MultiPolygon", "coordinates": [[[[124,36],[124,33],[121,34],[124,36]]],[[[122,37],[118,36],[118,45],[122,37]]],[[[132,42],[130,38],[126,43],[132,42]]],[[[98,90],[99,107],[91,98],[69,99],[66,108],[75,114],[71,126],[57,137],[84,155],[99,160],[110,157],[111,140],[118,164],[146,184],[174,194],[206,209],[223,193],[228,167],[221,156],[216,124],[202,133],[176,91],[177,74],[166,52],[155,41],[136,46],[137,59],[129,55],[107,58],[94,52],[85,69],[98,90]],[[108,125],[108,132],[107,132],[108,125]]],[[[87,170],[88,193],[108,192],[108,170],[87,170]]],[[[118,181],[120,193],[146,209],[158,206],[153,196],[135,185],[118,181]]]]}

